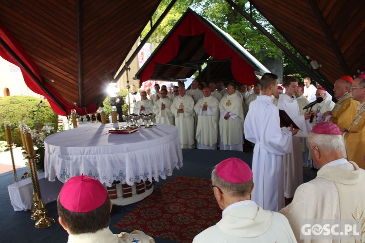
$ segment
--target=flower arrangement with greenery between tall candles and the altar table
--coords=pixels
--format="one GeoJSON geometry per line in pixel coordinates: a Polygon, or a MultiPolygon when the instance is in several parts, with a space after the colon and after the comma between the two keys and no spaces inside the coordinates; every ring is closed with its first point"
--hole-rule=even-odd
{"type": "Polygon", "coordinates": [[[44,139],[55,133],[52,124],[52,122],[45,122],[42,129],[31,131],[33,144],[36,147],[36,154],[39,155],[35,160],[37,171],[40,173],[44,172],[44,139]]]}

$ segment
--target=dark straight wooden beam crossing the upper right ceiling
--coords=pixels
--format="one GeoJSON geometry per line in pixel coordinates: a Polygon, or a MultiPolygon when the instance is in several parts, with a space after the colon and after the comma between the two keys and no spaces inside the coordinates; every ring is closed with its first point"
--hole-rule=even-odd
{"type": "Polygon", "coordinates": [[[336,55],[337,61],[339,62],[342,70],[344,71],[344,74],[347,75],[351,74],[350,69],[348,68],[347,63],[345,61],[345,58],[341,50],[337,46],[337,42],[334,36],[332,35],[329,26],[321,13],[321,10],[318,8],[317,2],[315,0],[308,0],[308,2],[313,9],[314,15],[317,17],[317,20],[321,25],[323,32],[326,34],[327,40],[329,41],[329,46],[332,48],[332,51],[336,55]]]}

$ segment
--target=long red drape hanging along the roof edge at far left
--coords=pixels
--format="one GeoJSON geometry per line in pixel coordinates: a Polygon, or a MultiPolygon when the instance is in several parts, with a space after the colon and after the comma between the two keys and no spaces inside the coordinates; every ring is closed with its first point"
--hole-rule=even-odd
{"type": "MultiPolygon", "coordinates": [[[[20,46],[18,41],[14,38],[13,35],[6,29],[6,27],[0,23],[0,37],[1,39],[13,50],[13,52],[16,53],[16,55],[20,58],[20,60],[26,65],[26,67],[34,73],[34,75],[42,82],[42,76],[40,75],[40,72],[38,70],[37,65],[32,60],[32,58],[28,55],[27,52],[24,51],[24,49],[20,46]]],[[[13,63],[14,65],[17,65],[21,73],[23,74],[23,78],[25,81],[25,84],[35,93],[43,95],[47,98],[47,101],[50,103],[52,109],[57,113],[58,115],[66,116],[67,114],[71,113],[72,109],[76,109],[77,113],[79,115],[85,115],[87,113],[94,113],[96,112],[96,103],[89,104],[87,107],[75,107],[72,105],[67,104],[65,99],[59,93],[49,84],[44,83],[46,89],[49,90],[50,93],[57,99],[57,101],[60,104],[63,104],[66,108],[66,111],[64,111],[61,107],[59,107],[53,98],[51,98],[47,93],[39,87],[36,80],[33,79],[33,77],[23,68],[19,65],[18,61],[2,46],[0,45],[0,55],[2,58],[7,60],[8,62],[13,63]]]]}

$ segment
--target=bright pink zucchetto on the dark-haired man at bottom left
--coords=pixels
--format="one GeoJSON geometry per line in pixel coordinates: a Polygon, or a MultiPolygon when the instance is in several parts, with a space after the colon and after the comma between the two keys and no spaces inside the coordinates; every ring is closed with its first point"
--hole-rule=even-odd
{"type": "Polygon", "coordinates": [[[108,192],[100,181],[79,175],[69,179],[59,193],[59,202],[67,210],[86,213],[102,206],[108,192]]]}

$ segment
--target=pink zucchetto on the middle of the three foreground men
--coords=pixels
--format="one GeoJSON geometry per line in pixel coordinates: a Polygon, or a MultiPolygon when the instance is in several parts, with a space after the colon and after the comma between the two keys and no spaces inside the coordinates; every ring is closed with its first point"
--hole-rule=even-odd
{"type": "Polygon", "coordinates": [[[216,167],[217,175],[230,183],[246,183],[252,179],[250,166],[239,158],[227,158],[216,167]]]}

